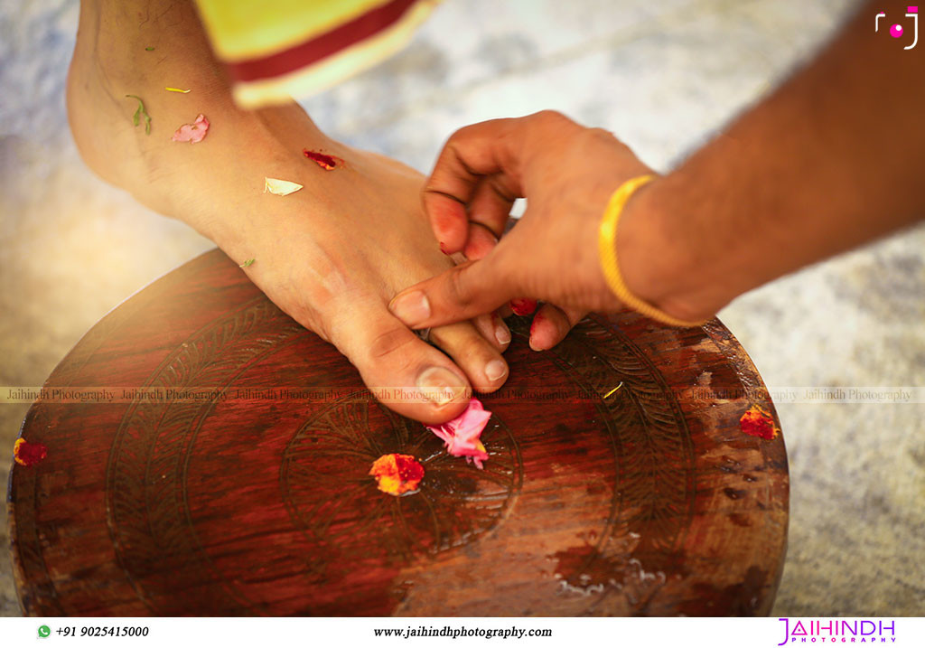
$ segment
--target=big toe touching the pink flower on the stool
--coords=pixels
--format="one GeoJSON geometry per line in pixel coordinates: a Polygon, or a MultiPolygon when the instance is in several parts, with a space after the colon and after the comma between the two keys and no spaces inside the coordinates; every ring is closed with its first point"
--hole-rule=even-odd
{"type": "Polygon", "coordinates": [[[463,371],[383,307],[378,296],[327,322],[328,337],[384,405],[425,423],[459,416],[472,395],[463,371]]]}

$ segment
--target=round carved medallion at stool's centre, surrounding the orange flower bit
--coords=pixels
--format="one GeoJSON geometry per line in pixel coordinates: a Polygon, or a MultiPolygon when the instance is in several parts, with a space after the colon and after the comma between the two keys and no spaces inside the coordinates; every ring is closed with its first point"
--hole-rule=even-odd
{"type": "MultiPolygon", "coordinates": [[[[279,477],[283,500],[296,528],[318,546],[313,556],[336,546],[351,561],[403,567],[414,555],[474,542],[511,509],[524,479],[517,443],[498,417],[482,441],[489,459],[477,470],[448,455],[424,425],[394,414],[372,394],[343,398],[306,421],[287,446],[279,477]],[[425,479],[417,492],[393,497],[376,489],[369,467],[389,453],[420,461],[425,479]],[[339,483],[332,498],[319,500],[319,480],[339,483]]],[[[311,566],[323,569],[316,557],[311,566]]]]}

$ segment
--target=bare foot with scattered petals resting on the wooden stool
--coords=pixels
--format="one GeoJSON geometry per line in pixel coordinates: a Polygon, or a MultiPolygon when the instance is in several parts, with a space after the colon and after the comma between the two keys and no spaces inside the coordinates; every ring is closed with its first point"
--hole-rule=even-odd
{"type": "Polygon", "coordinates": [[[402,388],[424,397],[387,401],[401,414],[447,420],[473,387],[492,392],[507,378],[500,353],[511,335],[498,316],[431,330],[438,349],[388,312],[395,293],[452,265],[421,208],[424,178],[329,140],[294,103],[236,108],[191,6],[81,3],[68,116],[97,174],[189,223],[237,262],[253,259],[245,271],[254,283],[334,343],[374,393],[402,388]],[[143,123],[132,125],[138,103],[126,94],[144,101],[150,134],[143,123]],[[170,140],[200,113],[211,124],[202,142],[170,140]],[[303,149],[343,164],[326,170],[303,149]],[[287,196],[263,193],[265,177],[304,187],[287,196]]]}

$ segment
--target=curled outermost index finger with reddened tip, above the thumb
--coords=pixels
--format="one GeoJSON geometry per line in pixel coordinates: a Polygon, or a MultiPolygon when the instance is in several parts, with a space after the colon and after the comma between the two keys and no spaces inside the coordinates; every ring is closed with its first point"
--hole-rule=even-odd
{"type": "Polygon", "coordinates": [[[450,253],[466,241],[467,206],[483,176],[499,173],[505,193],[523,195],[517,159],[524,131],[519,119],[493,119],[456,131],[443,146],[425,184],[423,201],[437,240],[450,253]]]}

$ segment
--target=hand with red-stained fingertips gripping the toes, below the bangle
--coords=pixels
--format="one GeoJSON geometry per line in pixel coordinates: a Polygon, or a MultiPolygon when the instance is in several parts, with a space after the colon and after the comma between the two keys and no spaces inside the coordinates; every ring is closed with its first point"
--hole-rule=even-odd
{"type": "MultiPolygon", "coordinates": [[[[622,307],[600,268],[598,227],[614,190],[651,172],[610,132],[586,129],[558,113],[457,131],[425,187],[431,227],[450,253],[465,251],[486,231],[500,241],[484,258],[402,291],[390,304],[392,312],[419,328],[491,312],[516,297],[540,299],[547,304],[537,311],[531,346],[549,348],[587,311],[622,307]],[[502,237],[517,197],[527,198],[526,212],[502,237]]],[[[640,252],[659,249],[660,221],[647,214],[639,227],[638,216],[623,215],[621,268],[631,291],[655,303],[659,273],[652,270],[660,264],[640,252]]]]}

